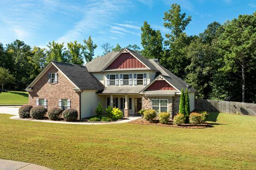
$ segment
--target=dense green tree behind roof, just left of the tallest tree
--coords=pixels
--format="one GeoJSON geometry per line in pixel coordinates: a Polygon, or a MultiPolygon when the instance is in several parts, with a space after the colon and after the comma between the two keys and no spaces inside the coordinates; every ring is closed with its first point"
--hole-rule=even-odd
{"type": "Polygon", "coordinates": [[[158,58],[162,53],[162,41],[160,30],[154,30],[146,21],[141,27],[141,54],[146,58],[158,58]]]}

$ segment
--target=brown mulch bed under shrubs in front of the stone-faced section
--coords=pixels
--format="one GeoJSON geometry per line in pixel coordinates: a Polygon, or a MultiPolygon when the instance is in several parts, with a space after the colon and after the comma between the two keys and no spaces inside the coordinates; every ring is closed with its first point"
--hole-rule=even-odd
{"type": "Polygon", "coordinates": [[[170,120],[167,124],[161,124],[159,120],[155,120],[153,123],[146,121],[142,118],[136,119],[134,121],[130,121],[129,123],[132,124],[144,124],[144,125],[156,125],[156,126],[164,126],[164,127],[178,127],[178,128],[188,128],[188,129],[203,129],[207,127],[213,127],[209,123],[204,124],[198,124],[198,125],[192,125],[192,124],[183,124],[181,126],[174,125],[173,122],[170,120]]]}

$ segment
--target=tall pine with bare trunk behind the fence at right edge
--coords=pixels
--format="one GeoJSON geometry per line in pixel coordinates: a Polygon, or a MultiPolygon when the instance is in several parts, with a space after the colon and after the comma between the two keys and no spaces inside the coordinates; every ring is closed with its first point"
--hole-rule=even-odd
{"type": "Polygon", "coordinates": [[[241,80],[242,102],[246,100],[247,74],[256,67],[256,15],[239,15],[224,27],[219,38],[224,50],[224,67],[220,71],[236,73],[241,80]]]}

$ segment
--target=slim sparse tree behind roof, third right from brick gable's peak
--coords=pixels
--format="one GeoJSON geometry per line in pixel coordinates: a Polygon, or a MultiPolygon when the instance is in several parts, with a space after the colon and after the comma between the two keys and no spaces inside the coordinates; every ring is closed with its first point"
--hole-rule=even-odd
{"type": "Polygon", "coordinates": [[[94,50],[97,48],[97,45],[94,44],[91,36],[88,40],[84,40],[85,45],[82,47],[82,53],[85,57],[86,62],[90,62],[94,57],[94,50]]]}

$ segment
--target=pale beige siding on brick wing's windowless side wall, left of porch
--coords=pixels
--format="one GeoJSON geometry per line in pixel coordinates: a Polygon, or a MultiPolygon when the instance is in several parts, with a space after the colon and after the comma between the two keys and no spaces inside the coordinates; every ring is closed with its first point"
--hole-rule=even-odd
{"type": "MultiPolygon", "coordinates": [[[[81,118],[87,118],[96,115],[95,109],[98,102],[104,103],[102,96],[96,95],[95,90],[83,91],[81,93],[81,118]]],[[[104,106],[103,106],[104,107],[104,106]]]]}

